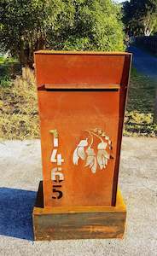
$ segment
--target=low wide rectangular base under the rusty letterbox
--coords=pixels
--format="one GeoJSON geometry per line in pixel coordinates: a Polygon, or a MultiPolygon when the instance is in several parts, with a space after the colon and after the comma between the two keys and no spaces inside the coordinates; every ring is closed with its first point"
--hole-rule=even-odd
{"type": "Polygon", "coordinates": [[[123,238],[126,207],[119,190],[115,207],[44,207],[40,182],[32,218],[34,240],[123,238]]]}

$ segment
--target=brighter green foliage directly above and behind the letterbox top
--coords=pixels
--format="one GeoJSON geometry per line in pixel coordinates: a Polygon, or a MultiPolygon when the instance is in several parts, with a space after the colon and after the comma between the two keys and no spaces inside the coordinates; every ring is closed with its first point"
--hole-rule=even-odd
{"type": "Polygon", "coordinates": [[[74,1],[73,22],[59,33],[54,49],[124,50],[124,33],[119,6],[110,0],[74,1]],[[60,44],[58,44],[58,41],[60,44]]]}

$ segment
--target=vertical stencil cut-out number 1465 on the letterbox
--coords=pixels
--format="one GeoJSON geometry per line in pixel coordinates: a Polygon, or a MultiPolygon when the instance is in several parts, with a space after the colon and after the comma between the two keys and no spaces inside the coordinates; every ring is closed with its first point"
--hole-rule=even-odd
{"type": "Polygon", "coordinates": [[[63,193],[61,191],[61,183],[64,180],[64,174],[62,173],[61,165],[64,162],[60,153],[58,153],[59,139],[58,133],[56,130],[49,131],[52,134],[52,143],[53,149],[52,154],[50,156],[50,162],[53,163],[53,168],[51,171],[51,179],[53,182],[53,195],[52,199],[61,199],[63,193]]]}

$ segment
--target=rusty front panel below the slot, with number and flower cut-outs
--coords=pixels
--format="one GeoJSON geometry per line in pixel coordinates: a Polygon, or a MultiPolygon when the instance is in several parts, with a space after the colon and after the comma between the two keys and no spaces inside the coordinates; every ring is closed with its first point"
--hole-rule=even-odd
{"type": "Polygon", "coordinates": [[[41,90],[39,106],[42,109],[40,118],[45,205],[111,205],[119,124],[119,91],[41,90]],[[57,147],[54,147],[55,132],[57,147]],[[52,160],[55,149],[57,151],[52,160]],[[57,154],[61,154],[61,165],[57,165],[57,154]],[[55,172],[57,175],[58,170],[55,171],[55,168],[60,167],[62,181],[49,183],[56,179],[55,172]],[[61,185],[56,187],[62,192],[59,200],[52,199],[59,195],[55,191],[53,193],[52,183],[53,186],[61,185]]]}

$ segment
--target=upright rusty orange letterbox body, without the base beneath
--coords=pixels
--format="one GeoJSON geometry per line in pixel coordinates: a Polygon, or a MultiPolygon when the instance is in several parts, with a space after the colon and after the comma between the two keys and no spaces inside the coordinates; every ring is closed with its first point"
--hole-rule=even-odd
{"type": "Polygon", "coordinates": [[[35,54],[44,207],[115,205],[131,55],[35,54]]]}

